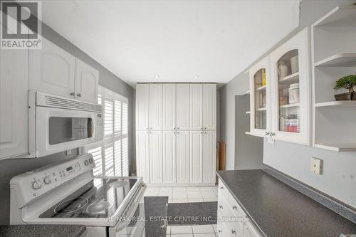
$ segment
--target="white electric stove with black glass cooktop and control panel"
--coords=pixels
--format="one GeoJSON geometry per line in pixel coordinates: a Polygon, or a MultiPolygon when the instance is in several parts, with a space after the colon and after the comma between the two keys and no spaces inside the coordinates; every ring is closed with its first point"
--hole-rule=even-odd
{"type": "Polygon", "coordinates": [[[11,224],[78,224],[84,236],[145,236],[141,177],[94,177],[91,154],[14,177],[11,224]]]}

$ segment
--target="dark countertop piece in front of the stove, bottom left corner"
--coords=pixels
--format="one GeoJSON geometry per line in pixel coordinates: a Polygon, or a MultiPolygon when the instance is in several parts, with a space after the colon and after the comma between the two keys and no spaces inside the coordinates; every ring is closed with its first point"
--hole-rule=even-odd
{"type": "Polygon", "coordinates": [[[9,225],[0,226],[1,237],[80,237],[85,226],[79,225],[9,225]]]}

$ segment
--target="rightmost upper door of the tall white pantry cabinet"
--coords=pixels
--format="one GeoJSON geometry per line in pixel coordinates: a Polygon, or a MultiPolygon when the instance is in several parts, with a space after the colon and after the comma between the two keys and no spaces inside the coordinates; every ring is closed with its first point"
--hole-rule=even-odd
{"type": "Polygon", "coordinates": [[[216,84],[204,84],[204,130],[216,130],[216,84]]]}

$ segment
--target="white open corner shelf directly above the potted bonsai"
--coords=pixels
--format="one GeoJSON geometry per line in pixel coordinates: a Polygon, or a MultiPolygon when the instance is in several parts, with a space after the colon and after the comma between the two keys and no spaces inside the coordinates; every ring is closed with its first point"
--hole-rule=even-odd
{"type": "Polygon", "coordinates": [[[356,53],[337,53],[318,61],[315,67],[356,67],[356,53]]]}

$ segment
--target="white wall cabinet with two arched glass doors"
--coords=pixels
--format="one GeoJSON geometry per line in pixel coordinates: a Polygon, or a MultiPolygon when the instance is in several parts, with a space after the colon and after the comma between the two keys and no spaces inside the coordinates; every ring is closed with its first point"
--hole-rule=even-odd
{"type": "Polygon", "coordinates": [[[309,28],[253,66],[251,135],[310,144],[309,28]]]}

